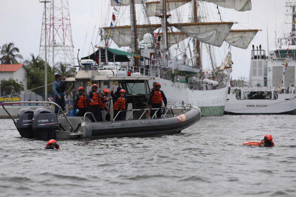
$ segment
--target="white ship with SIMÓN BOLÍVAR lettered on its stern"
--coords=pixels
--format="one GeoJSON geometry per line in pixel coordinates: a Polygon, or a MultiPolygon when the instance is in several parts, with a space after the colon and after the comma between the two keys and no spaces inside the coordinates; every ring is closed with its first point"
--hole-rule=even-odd
{"type": "Polygon", "coordinates": [[[225,114],[296,114],[295,3],[286,2],[286,7],[291,31],[276,39],[268,55],[261,45],[253,46],[250,78],[232,82],[225,114]]]}

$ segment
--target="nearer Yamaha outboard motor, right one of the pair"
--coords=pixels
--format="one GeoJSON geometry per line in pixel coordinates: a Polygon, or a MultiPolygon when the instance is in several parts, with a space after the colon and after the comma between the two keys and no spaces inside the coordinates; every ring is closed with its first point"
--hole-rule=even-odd
{"type": "Polygon", "coordinates": [[[32,120],[32,128],[37,139],[49,140],[56,137],[55,130],[59,127],[59,123],[54,112],[39,108],[35,110],[32,120]]]}

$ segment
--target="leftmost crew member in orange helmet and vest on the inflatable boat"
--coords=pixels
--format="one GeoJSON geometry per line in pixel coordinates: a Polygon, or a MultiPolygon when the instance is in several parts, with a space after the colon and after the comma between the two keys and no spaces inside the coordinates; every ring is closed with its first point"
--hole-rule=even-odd
{"type": "Polygon", "coordinates": [[[78,94],[74,97],[74,109],[76,116],[84,116],[88,107],[88,101],[86,95],[84,95],[84,87],[78,87],[78,94]]]}

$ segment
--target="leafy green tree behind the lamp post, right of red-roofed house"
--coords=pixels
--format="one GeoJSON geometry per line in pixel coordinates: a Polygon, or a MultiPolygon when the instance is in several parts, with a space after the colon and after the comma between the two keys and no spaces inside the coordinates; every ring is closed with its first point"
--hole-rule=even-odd
{"type": "MultiPolygon", "coordinates": [[[[39,56],[35,57],[33,53],[30,54],[31,60],[26,60],[25,65],[27,66],[27,86],[28,89],[38,95],[45,95],[45,62],[40,59],[39,56]],[[42,87],[43,86],[43,87],[42,87]],[[36,89],[34,89],[36,88],[36,89]]],[[[52,73],[51,67],[47,64],[47,84],[54,81],[54,74],[52,73]]],[[[47,93],[52,94],[52,85],[47,86],[47,93]]]]}

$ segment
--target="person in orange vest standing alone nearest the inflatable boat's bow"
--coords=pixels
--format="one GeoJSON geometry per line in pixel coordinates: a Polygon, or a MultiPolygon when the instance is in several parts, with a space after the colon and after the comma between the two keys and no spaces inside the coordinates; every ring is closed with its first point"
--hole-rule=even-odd
{"type": "MultiPolygon", "coordinates": [[[[167,101],[163,91],[160,90],[160,87],[161,87],[161,84],[156,83],[155,90],[152,90],[150,93],[150,97],[149,97],[149,101],[148,101],[150,109],[161,108],[161,106],[163,106],[163,102],[165,104],[165,108],[168,109],[168,107],[166,106],[168,104],[168,101],[167,101]]],[[[153,117],[155,111],[156,110],[150,110],[150,117],[153,117]]],[[[160,109],[156,112],[156,116],[157,116],[157,118],[161,117],[161,110],[160,109]]],[[[155,118],[155,116],[154,116],[154,118],[155,118]]]]}

